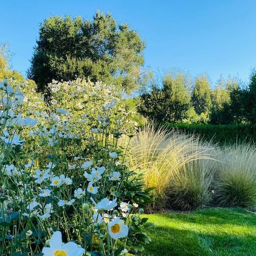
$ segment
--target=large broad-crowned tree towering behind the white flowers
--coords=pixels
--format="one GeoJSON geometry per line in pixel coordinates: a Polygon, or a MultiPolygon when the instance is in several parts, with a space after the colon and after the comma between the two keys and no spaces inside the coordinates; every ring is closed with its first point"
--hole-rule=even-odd
{"type": "Polygon", "coordinates": [[[39,39],[28,77],[45,90],[52,79],[90,78],[122,85],[130,91],[140,82],[145,42],[127,24],[117,25],[99,11],[92,21],[51,16],[39,27],[39,39]]]}

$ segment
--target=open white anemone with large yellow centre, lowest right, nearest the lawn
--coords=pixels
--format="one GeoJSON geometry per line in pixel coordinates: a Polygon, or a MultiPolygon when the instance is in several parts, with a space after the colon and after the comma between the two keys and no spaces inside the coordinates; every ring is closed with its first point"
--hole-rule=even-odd
{"type": "Polygon", "coordinates": [[[124,220],[117,217],[107,224],[107,230],[113,239],[124,238],[128,235],[128,226],[124,224],[124,220]]]}

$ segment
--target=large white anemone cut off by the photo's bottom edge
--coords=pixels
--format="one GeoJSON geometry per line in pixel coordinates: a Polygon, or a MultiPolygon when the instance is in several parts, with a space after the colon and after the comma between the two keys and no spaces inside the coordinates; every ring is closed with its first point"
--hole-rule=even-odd
{"type": "Polygon", "coordinates": [[[52,234],[49,244],[50,247],[43,248],[44,256],[82,256],[85,253],[84,248],[79,247],[75,242],[63,244],[60,231],[52,234]]]}

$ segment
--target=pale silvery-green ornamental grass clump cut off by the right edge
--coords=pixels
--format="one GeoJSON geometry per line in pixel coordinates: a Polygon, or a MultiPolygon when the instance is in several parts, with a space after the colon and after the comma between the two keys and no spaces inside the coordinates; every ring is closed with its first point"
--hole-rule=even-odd
{"type": "Polygon", "coordinates": [[[225,147],[215,181],[215,195],[223,206],[256,208],[255,145],[225,147]]]}

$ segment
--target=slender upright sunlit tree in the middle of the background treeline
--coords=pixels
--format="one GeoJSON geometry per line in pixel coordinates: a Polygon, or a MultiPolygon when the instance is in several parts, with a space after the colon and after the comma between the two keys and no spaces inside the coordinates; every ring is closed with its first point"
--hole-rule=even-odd
{"type": "Polygon", "coordinates": [[[207,77],[198,76],[192,93],[192,103],[197,114],[211,111],[211,91],[207,77]]]}

